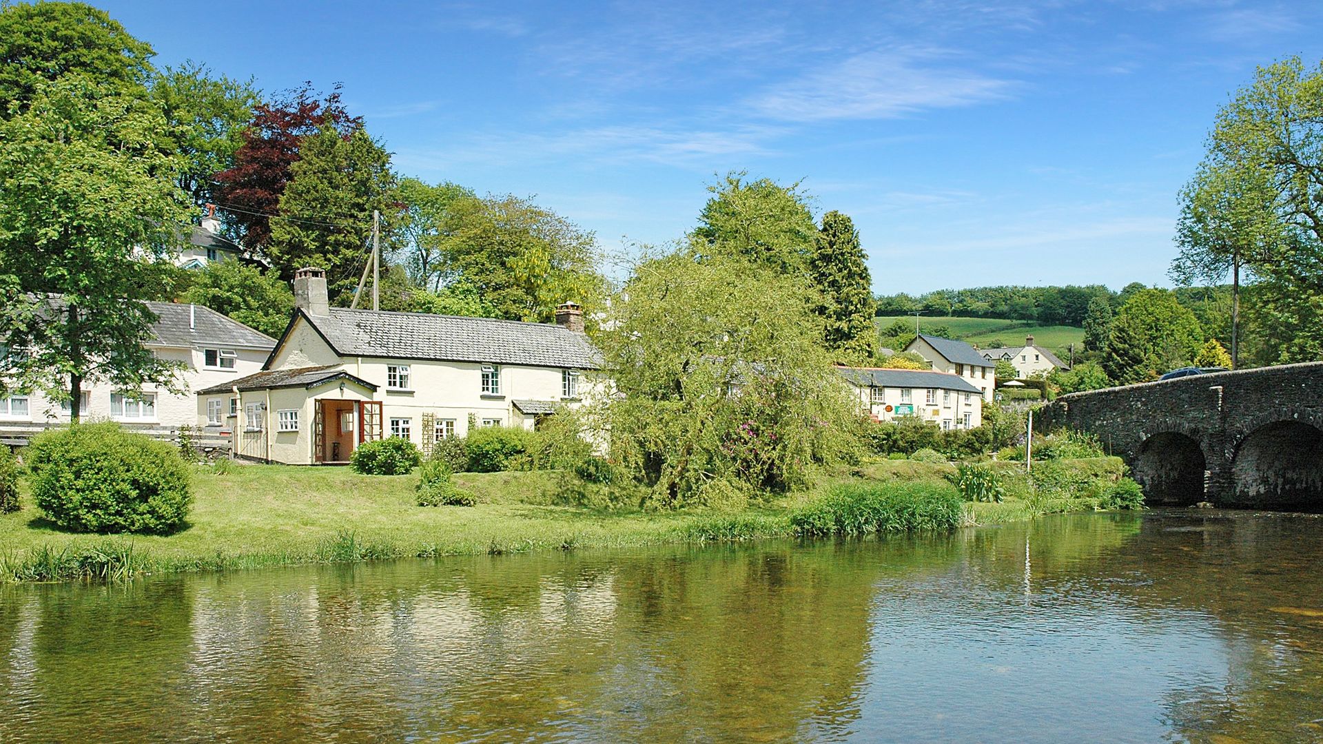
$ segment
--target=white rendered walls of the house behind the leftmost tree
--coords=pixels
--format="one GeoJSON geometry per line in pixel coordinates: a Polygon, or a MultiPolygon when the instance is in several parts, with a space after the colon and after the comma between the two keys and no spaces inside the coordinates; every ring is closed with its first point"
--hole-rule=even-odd
{"type": "MultiPolygon", "coordinates": [[[[237,352],[238,357],[234,360],[234,369],[212,369],[204,367],[204,348],[222,348],[200,346],[197,348],[176,348],[176,347],[152,347],[152,352],[161,359],[176,360],[184,363],[184,369],[180,372],[179,380],[184,384],[185,389],[180,393],[172,393],[161,388],[160,385],[143,385],[142,392],[156,393],[156,413],[152,417],[118,417],[110,413],[110,396],[114,393],[114,388],[105,384],[97,383],[91,385],[83,385],[83,392],[87,393],[87,408],[82,410],[82,417],[85,421],[91,420],[114,420],[123,424],[142,424],[148,426],[163,426],[163,428],[179,428],[179,426],[202,426],[206,424],[206,409],[201,409],[202,413],[198,414],[197,395],[196,391],[209,388],[212,385],[218,385],[229,380],[237,380],[246,375],[251,375],[262,369],[262,364],[266,361],[269,349],[233,349],[237,352]]],[[[229,347],[224,347],[229,348],[229,347]]],[[[41,393],[32,393],[28,396],[28,416],[15,417],[15,416],[0,416],[0,425],[5,422],[26,422],[26,424],[61,424],[67,422],[69,414],[62,410],[58,401],[53,401],[41,393]]]]}

